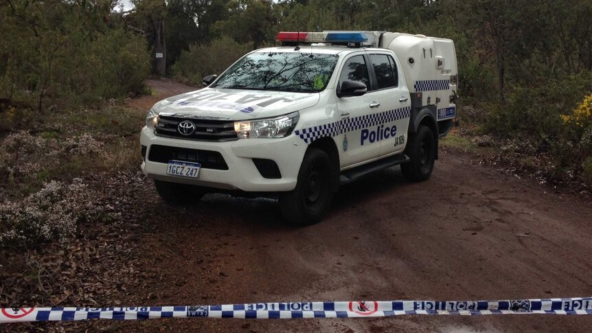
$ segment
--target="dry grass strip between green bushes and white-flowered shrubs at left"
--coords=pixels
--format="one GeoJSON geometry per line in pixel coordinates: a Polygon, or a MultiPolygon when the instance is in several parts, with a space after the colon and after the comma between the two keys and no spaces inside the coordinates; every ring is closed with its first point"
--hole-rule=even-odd
{"type": "Polygon", "coordinates": [[[0,139],[0,203],[49,181],[137,170],[144,115],[126,106],[56,113],[40,126],[0,139]]]}

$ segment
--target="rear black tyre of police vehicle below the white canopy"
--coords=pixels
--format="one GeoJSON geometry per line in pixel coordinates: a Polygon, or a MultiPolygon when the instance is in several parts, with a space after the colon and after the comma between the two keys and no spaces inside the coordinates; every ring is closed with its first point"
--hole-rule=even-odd
{"type": "Polygon", "coordinates": [[[401,165],[403,176],[408,181],[429,179],[434,168],[436,145],[434,135],[427,126],[420,126],[417,133],[409,133],[405,154],[411,161],[401,165]]]}

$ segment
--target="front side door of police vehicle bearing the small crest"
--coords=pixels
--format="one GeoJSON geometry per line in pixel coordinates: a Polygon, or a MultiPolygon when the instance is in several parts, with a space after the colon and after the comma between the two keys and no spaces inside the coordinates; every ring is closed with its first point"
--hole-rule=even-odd
{"type": "MultiPolygon", "coordinates": [[[[371,88],[369,76],[369,62],[365,51],[348,55],[341,62],[339,81],[336,93],[340,91],[345,81],[358,81],[371,88]]],[[[375,159],[380,153],[380,143],[376,135],[370,136],[368,128],[372,113],[376,108],[372,106],[373,97],[368,93],[361,96],[337,97],[337,109],[340,115],[340,137],[342,144],[337,146],[341,150],[341,168],[352,167],[363,161],[375,159]]]]}

